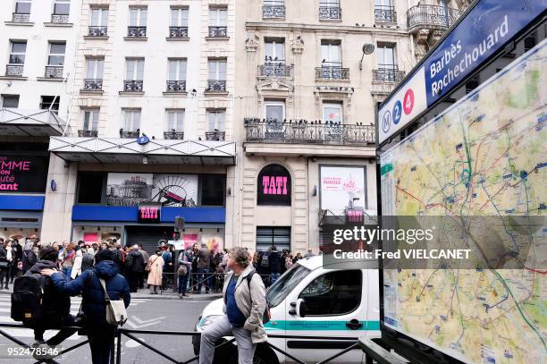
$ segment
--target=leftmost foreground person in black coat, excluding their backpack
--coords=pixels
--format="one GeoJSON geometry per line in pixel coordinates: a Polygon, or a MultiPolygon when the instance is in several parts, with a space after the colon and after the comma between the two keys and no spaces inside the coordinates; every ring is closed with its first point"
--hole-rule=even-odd
{"type": "MultiPolygon", "coordinates": [[[[25,275],[39,275],[43,269],[56,269],[57,256],[59,252],[52,246],[45,246],[39,250],[40,260],[25,273],[25,275]]],[[[60,275],[63,273],[59,272],[60,275]]],[[[63,275],[64,276],[64,275],[63,275]]],[[[46,341],[46,344],[55,346],[76,332],[77,329],[63,328],[63,326],[74,325],[74,317],[71,315],[71,297],[55,289],[55,285],[46,275],[40,276],[40,285],[44,287],[42,300],[43,318],[36,323],[34,329],[34,340],[37,343],[44,343],[44,333],[47,329],[61,329],[55,336],[46,341]]]]}

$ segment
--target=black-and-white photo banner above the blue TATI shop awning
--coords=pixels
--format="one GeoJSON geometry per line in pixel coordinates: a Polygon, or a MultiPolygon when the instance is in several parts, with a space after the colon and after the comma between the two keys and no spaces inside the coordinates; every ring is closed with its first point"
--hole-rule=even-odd
{"type": "Polygon", "coordinates": [[[108,174],[106,205],[138,206],[156,202],[164,207],[195,207],[196,174],[108,174]]]}

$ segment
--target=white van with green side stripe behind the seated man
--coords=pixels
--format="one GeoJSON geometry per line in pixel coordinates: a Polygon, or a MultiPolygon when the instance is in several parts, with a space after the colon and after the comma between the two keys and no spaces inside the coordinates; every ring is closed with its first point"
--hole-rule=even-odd
{"type": "MultiPolygon", "coordinates": [[[[265,325],[268,334],[325,336],[325,339],[268,338],[268,343],[305,361],[318,362],[355,343],[358,337],[380,336],[378,270],[349,267],[346,261],[324,266],[322,257],[311,257],[285,272],[266,292],[271,306],[271,320],[265,325]],[[328,340],[326,337],[347,337],[328,340]]],[[[203,331],[216,317],[223,315],[223,299],[212,301],[203,310],[196,331],[203,331]]],[[[199,352],[199,336],[193,339],[199,352]]],[[[357,347],[332,363],[361,363],[364,354],[357,347]]],[[[215,362],[237,363],[235,343],[225,344],[215,352],[215,362]],[[216,358],[219,358],[217,361],[216,358]]],[[[290,363],[293,360],[259,344],[255,362],[290,363]]]]}

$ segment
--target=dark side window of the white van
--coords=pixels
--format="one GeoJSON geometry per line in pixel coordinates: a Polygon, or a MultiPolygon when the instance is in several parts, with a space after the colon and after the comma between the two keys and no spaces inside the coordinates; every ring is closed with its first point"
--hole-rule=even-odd
{"type": "Polygon", "coordinates": [[[306,302],[306,316],[345,315],[358,309],[362,285],[361,270],[328,272],[310,282],[300,292],[299,299],[306,302]]]}

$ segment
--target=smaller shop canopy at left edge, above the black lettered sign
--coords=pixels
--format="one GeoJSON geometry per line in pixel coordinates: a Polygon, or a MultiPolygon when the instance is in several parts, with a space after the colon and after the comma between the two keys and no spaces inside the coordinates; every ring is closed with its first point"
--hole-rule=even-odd
{"type": "Polygon", "coordinates": [[[0,135],[58,136],[65,127],[63,119],[48,109],[0,108],[0,135]]]}

